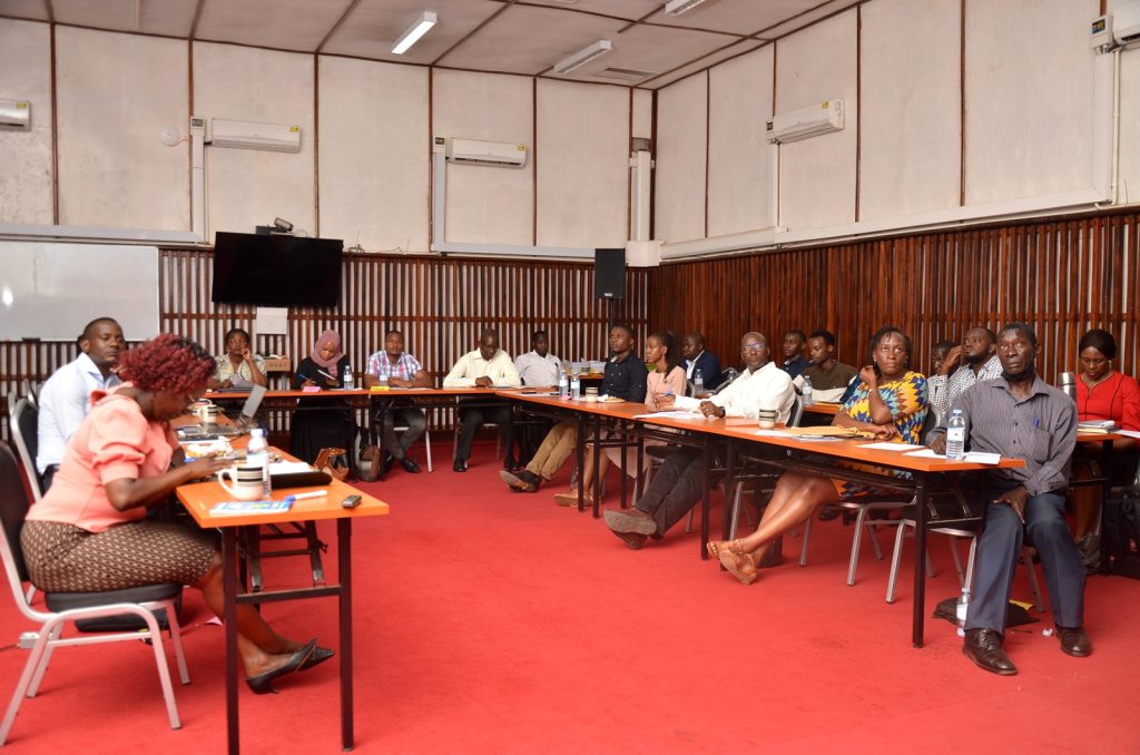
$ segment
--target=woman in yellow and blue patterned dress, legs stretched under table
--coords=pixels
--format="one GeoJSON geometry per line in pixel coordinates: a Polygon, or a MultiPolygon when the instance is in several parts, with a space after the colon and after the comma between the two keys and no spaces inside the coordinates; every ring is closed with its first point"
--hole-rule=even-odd
{"type": "MultiPolygon", "coordinates": [[[[871,364],[860,371],[861,382],[832,424],[868,430],[879,440],[921,443],[927,382],[907,368],[910,358],[911,340],[905,334],[890,326],[879,328],[871,339],[871,364]]],[[[776,482],[756,531],[741,539],[711,542],[709,553],[741,583],[751,584],[772,541],[807,521],[824,504],[874,492],[866,485],[787,472],[776,482]]]]}

